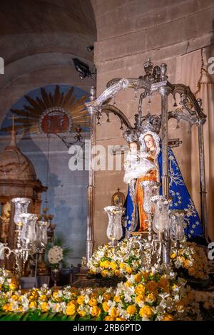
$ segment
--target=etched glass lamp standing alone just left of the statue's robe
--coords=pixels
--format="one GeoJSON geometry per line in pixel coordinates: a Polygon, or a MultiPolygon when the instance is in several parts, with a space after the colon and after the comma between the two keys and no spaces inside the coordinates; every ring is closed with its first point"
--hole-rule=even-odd
{"type": "Polygon", "coordinates": [[[121,206],[108,206],[104,210],[108,214],[107,237],[114,245],[123,237],[122,215],[126,209],[121,206]]]}

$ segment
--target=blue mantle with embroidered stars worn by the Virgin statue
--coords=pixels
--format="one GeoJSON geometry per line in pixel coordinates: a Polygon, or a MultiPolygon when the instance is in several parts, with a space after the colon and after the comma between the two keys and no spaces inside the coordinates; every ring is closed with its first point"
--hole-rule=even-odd
{"type": "MultiPolygon", "coordinates": [[[[162,175],[162,153],[158,155],[158,165],[160,172],[160,180],[162,175]]],[[[188,210],[188,215],[185,215],[185,236],[188,240],[194,239],[195,237],[203,237],[203,227],[200,222],[198,212],[193,204],[193,200],[190,197],[185,182],[178,167],[177,160],[173,154],[173,150],[168,148],[168,165],[169,165],[169,194],[173,197],[173,203],[170,205],[170,210],[188,210]]],[[[162,187],[160,189],[162,194],[162,187]]],[[[131,218],[133,213],[133,202],[128,187],[128,195],[124,204],[126,207],[126,230],[131,226],[131,218]]],[[[136,231],[138,231],[138,226],[136,231]]]]}

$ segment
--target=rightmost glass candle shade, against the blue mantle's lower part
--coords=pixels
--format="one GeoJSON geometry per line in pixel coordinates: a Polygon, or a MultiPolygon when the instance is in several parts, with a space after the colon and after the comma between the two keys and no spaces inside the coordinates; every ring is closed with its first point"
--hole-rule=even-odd
{"type": "Polygon", "coordinates": [[[182,241],[184,232],[185,210],[170,210],[170,239],[174,242],[182,241]]]}

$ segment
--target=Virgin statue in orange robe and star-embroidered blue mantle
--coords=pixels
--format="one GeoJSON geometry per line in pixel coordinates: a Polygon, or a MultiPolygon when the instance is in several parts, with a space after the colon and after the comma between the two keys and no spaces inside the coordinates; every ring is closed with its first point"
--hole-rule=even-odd
{"type": "MultiPolygon", "coordinates": [[[[143,232],[147,228],[147,215],[143,210],[143,190],[140,182],[145,180],[161,182],[162,176],[161,139],[158,134],[151,130],[145,130],[138,135],[138,143],[140,144],[138,165],[145,165],[146,160],[149,160],[152,164],[149,169],[141,168],[141,171],[143,171],[141,175],[133,175],[133,178],[129,178],[128,195],[124,207],[126,207],[126,230],[132,232],[143,232]]],[[[203,237],[203,227],[198,212],[185,186],[171,148],[168,148],[168,166],[170,176],[169,195],[173,197],[170,210],[186,210],[185,236],[188,240],[194,239],[196,236],[203,237]]],[[[126,182],[125,178],[124,181],[126,182]]],[[[162,187],[160,188],[160,194],[162,194],[162,187]]]]}

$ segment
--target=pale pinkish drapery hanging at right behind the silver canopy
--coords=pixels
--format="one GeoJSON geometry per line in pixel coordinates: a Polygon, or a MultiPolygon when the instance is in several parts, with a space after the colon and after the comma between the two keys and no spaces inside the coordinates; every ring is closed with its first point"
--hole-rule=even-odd
{"type": "MultiPolygon", "coordinates": [[[[208,69],[208,59],[214,56],[214,48],[203,48],[203,61],[205,70],[208,69]]],[[[208,200],[208,236],[214,240],[214,75],[202,71],[201,50],[188,53],[176,59],[175,83],[184,83],[190,86],[196,98],[203,100],[203,111],[207,120],[203,126],[205,144],[205,177],[208,200]],[[198,81],[200,86],[198,87],[198,81]]],[[[198,130],[194,126],[188,134],[188,126],[183,127],[183,157],[185,158],[186,177],[188,188],[193,202],[200,212],[200,177],[198,158],[198,130]]]]}

